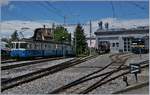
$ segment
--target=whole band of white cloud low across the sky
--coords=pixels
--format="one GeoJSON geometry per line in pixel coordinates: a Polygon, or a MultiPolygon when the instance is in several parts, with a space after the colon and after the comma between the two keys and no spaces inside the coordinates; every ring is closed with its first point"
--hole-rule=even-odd
{"type": "MultiPolygon", "coordinates": [[[[94,36],[94,32],[98,29],[98,22],[103,21],[104,23],[109,23],[109,28],[133,28],[137,26],[148,26],[149,25],[149,19],[132,19],[132,20],[119,20],[116,18],[104,18],[96,21],[92,21],[92,35],[94,36]]],[[[53,22],[53,21],[51,21],[53,22]]],[[[55,22],[55,24],[61,24],[58,22],[55,22]]],[[[89,24],[89,22],[87,22],[89,24]]],[[[21,30],[23,27],[30,28],[23,32],[25,37],[31,37],[33,35],[33,31],[35,28],[43,27],[43,25],[46,25],[46,27],[52,27],[52,23],[50,21],[19,21],[19,20],[13,20],[13,21],[3,21],[1,23],[1,37],[8,37],[10,36],[15,30],[21,30]]],[[[76,25],[69,26],[66,28],[68,31],[72,34],[75,31],[76,25]]],[[[85,30],[85,35],[89,36],[89,30],[90,26],[86,25],[83,26],[83,29],[85,30]]]]}

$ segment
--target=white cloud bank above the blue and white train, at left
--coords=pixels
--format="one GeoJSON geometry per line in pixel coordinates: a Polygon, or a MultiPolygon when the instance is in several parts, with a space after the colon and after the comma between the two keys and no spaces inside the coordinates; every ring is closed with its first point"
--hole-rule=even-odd
{"type": "Polygon", "coordinates": [[[3,21],[1,22],[1,37],[9,37],[15,30],[21,31],[21,28],[29,28],[22,32],[25,37],[31,37],[33,35],[33,31],[35,28],[43,27],[51,27],[52,24],[47,22],[34,22],[34,21],[3,21]]]}

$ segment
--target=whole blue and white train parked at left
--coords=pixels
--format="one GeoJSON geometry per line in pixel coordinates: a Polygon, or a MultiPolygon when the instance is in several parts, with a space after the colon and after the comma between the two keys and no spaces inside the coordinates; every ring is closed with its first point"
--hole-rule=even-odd
{"type": "Polygon", "coordinates": [[[13,58],[72,56],[70,44],[53,41],[22,40],[13,41],[10,56],[13,58]]]}

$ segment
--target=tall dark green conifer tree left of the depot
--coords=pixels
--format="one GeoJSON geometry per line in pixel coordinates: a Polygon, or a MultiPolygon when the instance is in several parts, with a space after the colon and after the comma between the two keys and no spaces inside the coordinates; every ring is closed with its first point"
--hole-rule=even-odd
{"type": "Polygon", "coordinates": [[[76,48],[76,54],[84,54],[87,49],[86,38],[84,35],[84,29],[80,24],[77,25],[74,33],[74,46],[76,48]]]}

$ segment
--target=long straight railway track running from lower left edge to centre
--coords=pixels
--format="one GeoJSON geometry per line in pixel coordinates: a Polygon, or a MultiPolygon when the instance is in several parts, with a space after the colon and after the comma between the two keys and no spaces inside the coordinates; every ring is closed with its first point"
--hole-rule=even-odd
{"type": "Polygon", "coordinates": [[[51,67],[37,70],[35,72],[31,72],[31,73],[28,73],[25,75],[17,76],[17,77],[8,79],[8,80],[3,80],[3,81],[1,81],[1,91],[10,89],[12,87],[21,85],[21,84],[26,83],[26,82],[33,81],[35,79],[41,78],[41,77],[49,75],[49,74],[56,73],[58,71],[61,71],[63,69],[69,68],[71,66],[80,64],[82,62],[85,62],[85,61],[87,61],[91,58],[95,58],[95,57],[96,56],[89,56],[89,57],[85,57],[85,58],[75,58],[75,59],[72,59],[70,61],[67,61],[67,62],[64,62],[61,64],[57,64],[57,65],[54,65],[51,67]]]}

